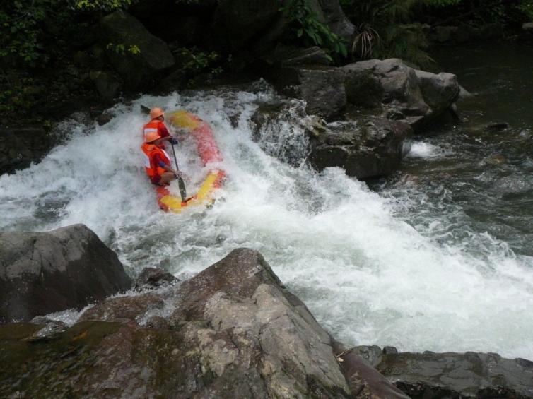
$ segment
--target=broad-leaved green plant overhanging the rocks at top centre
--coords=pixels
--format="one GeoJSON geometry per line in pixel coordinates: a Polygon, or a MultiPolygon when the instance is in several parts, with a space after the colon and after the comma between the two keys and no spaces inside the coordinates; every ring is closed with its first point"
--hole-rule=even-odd
{"type": "Polygon", "coordinates": [[[325,23],[320,22],[317,13],[312,11],[307,0],[288,0],[279,11],[295,25],[293,32],[303,44],[322,47],[336,58],[346,58],[348,52],[344,41],[325,23]]]}

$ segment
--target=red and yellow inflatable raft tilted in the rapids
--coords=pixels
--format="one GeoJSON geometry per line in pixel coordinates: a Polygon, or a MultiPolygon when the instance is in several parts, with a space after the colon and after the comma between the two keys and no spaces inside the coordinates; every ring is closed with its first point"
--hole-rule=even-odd
{"type": "MultiPolygon", "coordinates": [[[[221,153],[213,138],[213,131],[206,121],[184,109],[166,114],[166,117],[172,126],[186,129],[193,136],[204,166],[222,161],[221,153]]],[[[180,196],[171,194],[166,187],[158,186],[156,188],[158,204],[165,211],[178,213],[186,206],[213,203],[213,192],[221,186],[224,174],[225,172],[222,169],[211,169],[206,174],[197,193],[194,196],[185,198],[185,201],[182,201],[180,196]]]]}

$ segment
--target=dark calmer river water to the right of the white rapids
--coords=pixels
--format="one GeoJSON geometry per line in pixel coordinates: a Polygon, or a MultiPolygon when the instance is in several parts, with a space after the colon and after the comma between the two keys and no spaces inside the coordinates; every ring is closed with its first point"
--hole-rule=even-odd
{"type": "Polygon", "coordinates": [[[443,243],[468,245],[469,234],[487,232],[532,256],[533,46],[443,47],[432,56],[435,72],[455,73],[472,96],[458,103],[460,121],[417,136],[401,171],[375,188],[402,198],[411,224],[442,230],[443,243]],[[487,127],[496,123],[509,127],[487,127]]]}

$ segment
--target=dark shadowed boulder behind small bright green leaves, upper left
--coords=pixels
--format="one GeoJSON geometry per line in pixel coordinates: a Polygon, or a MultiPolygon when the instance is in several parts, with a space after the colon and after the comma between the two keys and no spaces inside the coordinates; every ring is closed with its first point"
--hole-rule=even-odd
{"type": "Polygon", "coordinates": [[[102,43],[107,58],[122,76],[128,88],[137,88],[148,78],[175,64],[174,56],[167,44],[153,36],[134,16],[124,11],[115,11],[100,21],[102,26],[102,43]],[[124,45],[124,54],[116,45],[124,45]],[[139,54],[127,51],[129,46],[139,47],[139,54]],[[118,50],[118,51],[117,51],[118,50]]]}

